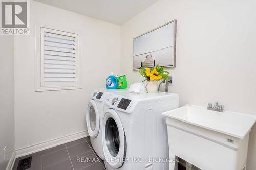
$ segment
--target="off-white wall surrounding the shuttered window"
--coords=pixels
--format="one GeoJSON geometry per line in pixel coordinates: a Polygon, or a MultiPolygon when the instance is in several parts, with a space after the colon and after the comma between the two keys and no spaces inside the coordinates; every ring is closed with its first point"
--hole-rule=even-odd
{"type": "Polygon", "coordinates": [[[120,27],[35,1],[30,36],[15,37],[15,148],[17,150],[86,131],[90,91],[119,74],[120,27]],[[35,23],[44,21],[82,31],[82,89],[35,92],[35,23]]]}

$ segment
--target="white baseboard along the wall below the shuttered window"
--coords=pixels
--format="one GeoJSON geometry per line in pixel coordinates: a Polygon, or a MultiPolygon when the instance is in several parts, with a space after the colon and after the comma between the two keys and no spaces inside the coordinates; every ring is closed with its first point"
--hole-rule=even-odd
{"type": "Polygon", "coordinates": [[[38,151],[42,151],[48,148],[56,147],[59,144],[67,143],[67,142],[74,141],[87,136],[89,136],[89,134],[88,134],[88,131],[86,130],[86,131],[81,131],[81,132],[73,133],[70,135],[58,137],[55,139],[51,139],[48,141],[40,142],[37,144],[33,144],[28,147],[16,149],[16,158],[22,157],[28,154],[32,154],[38,151]]]}

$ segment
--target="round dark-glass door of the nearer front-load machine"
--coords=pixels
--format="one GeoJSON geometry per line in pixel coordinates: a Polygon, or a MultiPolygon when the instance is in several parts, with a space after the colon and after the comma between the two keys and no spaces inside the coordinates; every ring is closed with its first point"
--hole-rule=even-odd
{"type": "Polygon", "coordinates": [[[113,109],[107,109],[102,124],[103,152],[106,162],[112,168],[123,165],[126,153],[126,140],[121,120],[113,109]]]}

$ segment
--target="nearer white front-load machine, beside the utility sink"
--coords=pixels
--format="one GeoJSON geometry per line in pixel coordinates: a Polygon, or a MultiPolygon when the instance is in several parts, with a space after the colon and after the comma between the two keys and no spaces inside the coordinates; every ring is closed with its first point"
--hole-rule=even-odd
{"type": "Polygon", "coordinates": [[[168,169],[168,139],[164,111],[178,108],[174,93],[106,95],[102,122],[102,144],[107,170],[168,169]],[[152,159],[151,159],[152,158],[152,159]]]}

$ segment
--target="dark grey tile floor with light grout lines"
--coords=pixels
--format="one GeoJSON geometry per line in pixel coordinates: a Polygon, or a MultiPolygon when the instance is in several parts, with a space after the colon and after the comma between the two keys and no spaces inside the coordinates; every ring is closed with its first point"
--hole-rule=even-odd
{"type": "Polygon", "coordinates": [[[104,163],[92,149],[89,137],[17,158],[12,170],[17,170],[20,159],[30,156],[32,156],[31,167],[27,170],[105,169],[104,163]]]}

